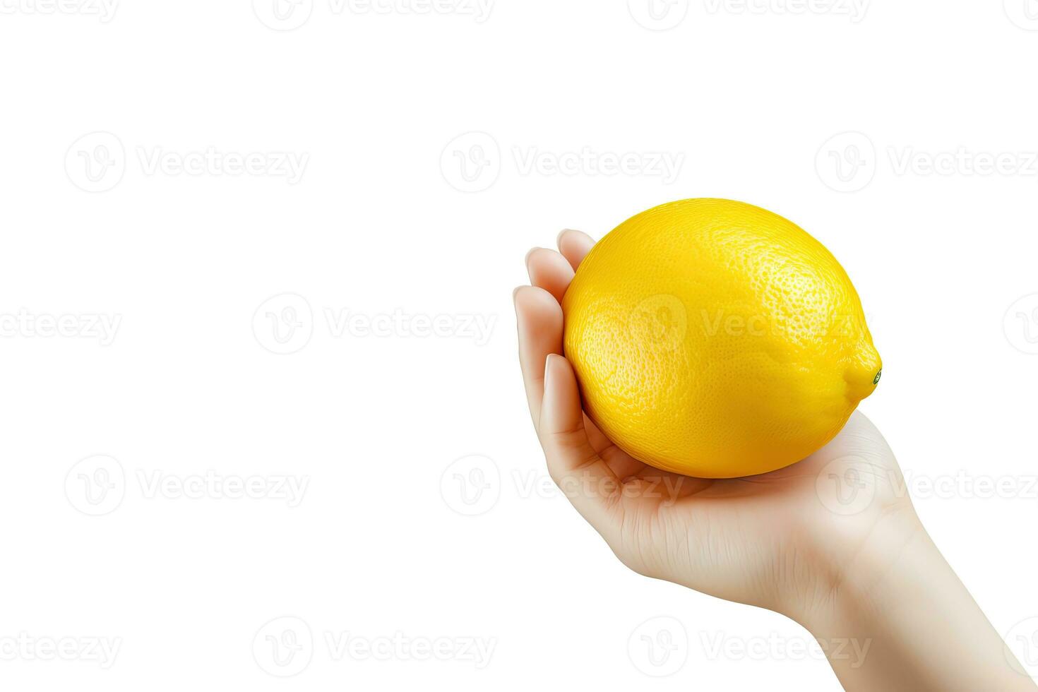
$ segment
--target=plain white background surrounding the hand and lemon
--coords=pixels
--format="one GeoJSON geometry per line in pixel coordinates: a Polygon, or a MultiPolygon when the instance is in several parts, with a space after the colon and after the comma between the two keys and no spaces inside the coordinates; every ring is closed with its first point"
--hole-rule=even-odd
{"type": "Polygon", "coordinates": [[[843,262],[926,525],[1000,632],[1038,615],[1038,6],[795,2],[0,0],[0,685],[837,689],[545,489],[523,254],[699,196],[843,262]]]}

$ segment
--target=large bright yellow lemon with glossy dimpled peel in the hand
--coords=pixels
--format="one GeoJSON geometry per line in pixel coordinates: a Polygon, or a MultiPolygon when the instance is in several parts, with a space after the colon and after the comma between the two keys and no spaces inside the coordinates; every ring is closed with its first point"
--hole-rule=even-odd
{"type": "Polygon", "coordinates": [[[882,368],[829,251],[728,199],[622,223],[580,264],[563,310],[588,415],[635,459],[686,475],[753,475],[808,456],[882,368]]]}

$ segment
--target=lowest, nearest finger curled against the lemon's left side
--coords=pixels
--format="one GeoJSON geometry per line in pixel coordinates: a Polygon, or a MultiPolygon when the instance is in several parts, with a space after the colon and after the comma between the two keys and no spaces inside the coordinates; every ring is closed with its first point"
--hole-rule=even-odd
{"type": "Polygon", "coordinates": [[[577,511],[604,531],[621,499],[621,482],[588,440],[576,377],[558,355],[549,355],[545,364],[538,434],[552,479],[577,511]]]}

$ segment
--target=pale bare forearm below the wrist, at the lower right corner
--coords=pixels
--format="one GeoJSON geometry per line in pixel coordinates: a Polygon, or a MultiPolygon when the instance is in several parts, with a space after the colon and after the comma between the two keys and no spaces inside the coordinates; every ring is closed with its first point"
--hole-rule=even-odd
{"type": "Polygon", "coordinates": [[[802,620],[846,690],[1036,689],[914,515],[877,526],[849,572],[802,620]]]}

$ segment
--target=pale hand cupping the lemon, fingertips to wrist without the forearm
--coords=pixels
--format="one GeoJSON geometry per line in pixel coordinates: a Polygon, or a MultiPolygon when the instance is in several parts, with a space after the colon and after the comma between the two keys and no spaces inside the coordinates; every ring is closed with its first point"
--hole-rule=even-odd
{"type": "Polygon", "coordinates": [[[639,573],[769,606],[803,588],[802,562],[811,559],[830,565],[820,573],[827,583],[812,585],[830,591],[877,518],[907,504],[895,492],[900,473],[878,431],[855,413],[808,459],[743,478],[682,476],[630,456],[583,414],[568,366],[553,366],[551,377],[567,380],[557,387],[561,394],[544,386],[545,358],[562,352],[559,302],[591,245],[582,233],[568,231],[559,237],[562,254],[535,250],[527,256],[534,287],[516,293],[526,392],[552,476],[591,475],[614,486],[605,500],[586,492],[570,493],[570,499],[639,573]],[[549,394],[558,399],[550,407],[549,394]],[[551,420],[544,419],[542,404],[551,409],[551,420]]]}

